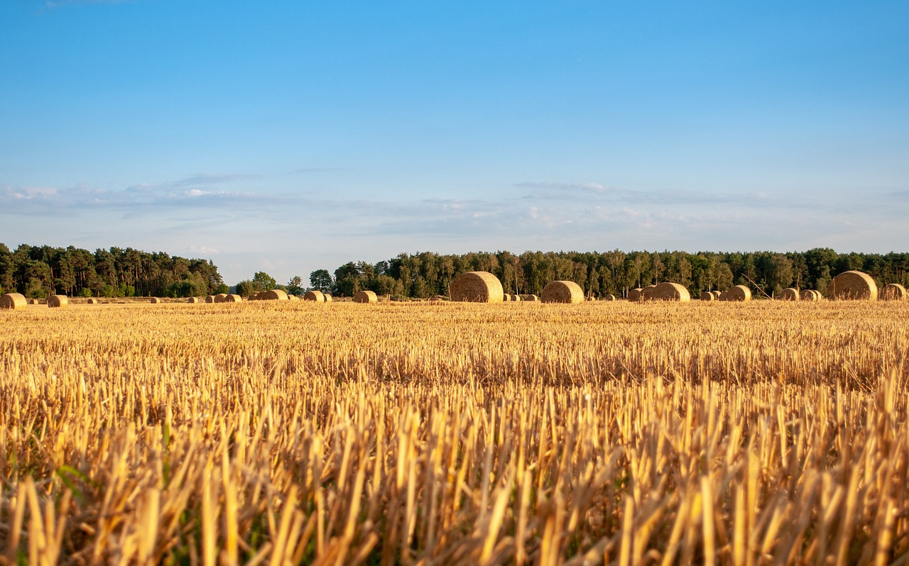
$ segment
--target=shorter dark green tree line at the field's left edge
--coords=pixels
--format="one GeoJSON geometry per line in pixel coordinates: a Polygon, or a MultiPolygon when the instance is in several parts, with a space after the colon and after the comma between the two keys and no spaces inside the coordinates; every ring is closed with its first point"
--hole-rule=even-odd
{"type": "Polygon", "coordinates": [[[0,243],[0,293],[29,298],[61,293],[84,297],[189,297],[226,293],[211,260],[133,248],[88,250],[69,246],[0,243]]]}

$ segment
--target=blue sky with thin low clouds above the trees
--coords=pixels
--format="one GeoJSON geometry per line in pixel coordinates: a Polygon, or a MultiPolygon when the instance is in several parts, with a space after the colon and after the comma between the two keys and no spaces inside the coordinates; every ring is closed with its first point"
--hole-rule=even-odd
{"type": "Polygon", "coordinates": [[[0,3],[0,242],[909,249],[909,3],[0,3]]]}

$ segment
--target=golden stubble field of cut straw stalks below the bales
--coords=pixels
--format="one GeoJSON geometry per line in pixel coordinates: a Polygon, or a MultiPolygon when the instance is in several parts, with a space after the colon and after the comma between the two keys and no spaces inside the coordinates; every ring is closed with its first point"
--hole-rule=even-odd
{"type": "Polygon", "coordinates": [[[0,564],[905,564],[907,353],[907,303],[0,312],[0,564]]]}

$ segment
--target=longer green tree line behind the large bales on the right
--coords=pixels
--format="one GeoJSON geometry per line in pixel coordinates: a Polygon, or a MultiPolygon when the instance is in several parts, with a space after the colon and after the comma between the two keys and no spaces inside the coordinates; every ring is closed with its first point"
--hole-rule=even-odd
{"type": "Polygon", "coordinates": [[[824,293],[837,273],[858,270],[871,274],[878,285],[909,286],[909,253],[836,253],[830,248],[806,252],[510,252],[401,253],[379,263],[349,262],[310,274],[313,288],[338,296],[360,290],[401,297],[428,298],[448,294],[458,273],[485,271],[502,282],[505,293],[543,291],[547,283],[570,280],[591,297],[625,296],[628,290],[669,281],[697,296],[735,284],[763,296],[786,287],[824,293]]]}

